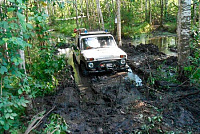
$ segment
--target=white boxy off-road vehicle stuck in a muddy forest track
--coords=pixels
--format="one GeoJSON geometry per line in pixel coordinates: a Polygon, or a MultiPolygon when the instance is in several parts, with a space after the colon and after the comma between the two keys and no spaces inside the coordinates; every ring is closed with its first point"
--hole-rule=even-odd
{"type": "Polygon", "coordinates": [[[73,57],[83,75],[107,71],[127,71],[127,54],[117,46],[110,33],[87,32],[86,29],[75,29],[74,32],[76,38],[73,57]]]}

